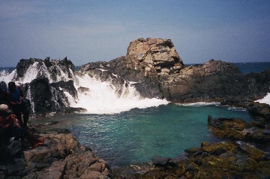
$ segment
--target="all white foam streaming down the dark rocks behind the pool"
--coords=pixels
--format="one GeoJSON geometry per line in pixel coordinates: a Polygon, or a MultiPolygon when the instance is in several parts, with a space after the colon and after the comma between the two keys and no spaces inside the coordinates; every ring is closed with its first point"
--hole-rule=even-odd
{"type": "MultiPolygon", "coordinates": [[[[47,77],[50,83],[58,82],[60,80],[68,81],[72,79],[74,80],[74,85],[76,89],[78,89],[79,87],[86,87],[89,89],[89,91],[78,93],[78,98],[73,98],[70,93],[68,93],[67,91],[63,91],[64,95],[68,99],[69,104],[67,104],[65,100],[63,100],[63,102],[66,106],[69,107],[85,108],[88,113],[118,113],[129,111],[133,108],[142,109],[148,107],[156,107],[169,103],[165,99],[142,98],[137,92],[137,90],[135,90],[135,88],[131,87],[130,85],[128,87],[125,87],[125,85],[123,85],[121,89],[119,89],[119,87],[117,89],[109,81],[102,82],[99,79],[95,77],[91,78],[88,75],[79,77],[77,75],[74,75],[71,69],[70,72],[72,74],[72,78],[69,78],[68,75],[64,73],[58,66],[55,66],[55,68],[57,71],[56,79],[52,78],[51,72],[48,70],[44,63],[40,64],[36,62],[27,69],[24,77],[22,78],[17,78],[16,69],[12,73],[2,71],[0,73],[0,81],[5,81],[6,83],[8,83],[9,81],[15,81],[16,84],[30,83],[38,76],[47,77]]],[[[104,71],[103,69],[100,70],[104,71]]],[[[113,74],[113,76],[118,77],[116,74],[113,74]]],[[[59,90],[63,89],[59,88],[59,90]]],[[[55,96],[52,96],[51,100],[55,101],[55,106],[56,108],[58,108],[58,91],[55,89],[51,89],[51,92],[55,94],[55,96]]],[[[30,90],[27,91],[27,98],[31,100],[30,90]]],[[[34,103],[32,101],[31,107],[32,109],[34,109],[34,103]]]]}

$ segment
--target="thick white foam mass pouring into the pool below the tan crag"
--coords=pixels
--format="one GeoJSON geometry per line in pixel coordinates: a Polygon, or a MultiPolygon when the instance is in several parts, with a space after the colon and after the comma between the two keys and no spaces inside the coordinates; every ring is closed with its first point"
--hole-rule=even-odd
{"type": "Polygon", "coordinates": [[[85,87],[89,91],[78,93],[78,100],[72,107],[85,108],[88,113],[104,114],[129,111],[133,108],[148,108],[168,104],[165,99],[141,98],[133,87],[123,86],[122,93],[117,95],[117,89],[109,82],[102,82],[88,75],[78,78],[76,88],[85,87]]]}

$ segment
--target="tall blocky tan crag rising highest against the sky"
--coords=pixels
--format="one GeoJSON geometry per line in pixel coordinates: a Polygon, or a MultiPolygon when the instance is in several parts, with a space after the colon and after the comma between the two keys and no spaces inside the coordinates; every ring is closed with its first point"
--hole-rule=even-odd
{"type": "Polygon", "coordinates": [[[184,64],[170,39],[137,39],[130,43],[126,56],[109,62],[117,75],[129,81],[179,73],[184,64]]]}

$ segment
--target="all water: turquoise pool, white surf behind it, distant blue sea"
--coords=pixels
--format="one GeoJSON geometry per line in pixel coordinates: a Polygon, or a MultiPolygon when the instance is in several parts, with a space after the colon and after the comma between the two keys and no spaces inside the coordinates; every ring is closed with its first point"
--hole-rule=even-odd
{"type": "MultiPolygon", "coordinates": [[[[247,74],[269,68],[270,62],[234,65],[247,74]]],[[[0,77],[14,69],[0,67],[0,77]]],[[[87,113],[44,117],[32,120],[32,124],[57,121],[54,127],[68,128],[112,168],[149,162],[154,156],[181,156],[185,149],[198,147],[202,141],[219,141],[207,127],[208,115],[253,120],[246,109],[218,102],[179,104],[141,99],[132,88],[128,89],[130,95],[119,98],[110,84],[90,78],[78,81],[78,86],[87,84],[91,92],[79,96],[74,107],[84,107],[87,113]]],[[[270,93],[261,102],[270,103],[270,93]]]]}

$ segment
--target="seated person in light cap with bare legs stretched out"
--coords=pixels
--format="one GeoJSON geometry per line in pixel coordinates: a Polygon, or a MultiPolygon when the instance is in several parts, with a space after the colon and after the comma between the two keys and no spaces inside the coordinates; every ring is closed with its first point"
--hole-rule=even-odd
{"type": "Polygon", "coordinates": [[[38,147],[44,143],[44,137],[37,139],[29,130],[21,128],[17,116],[10,114],[10,112],[7,105],[0,105],[0,128],[3,130],[4,138],[26,138],[33,147],[38,147]]]}

